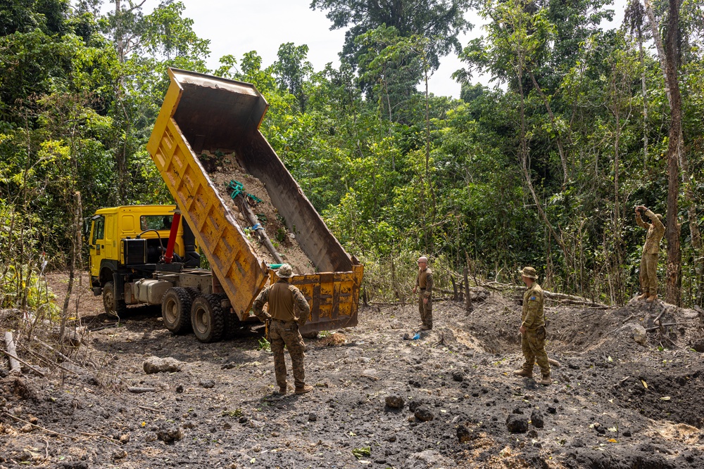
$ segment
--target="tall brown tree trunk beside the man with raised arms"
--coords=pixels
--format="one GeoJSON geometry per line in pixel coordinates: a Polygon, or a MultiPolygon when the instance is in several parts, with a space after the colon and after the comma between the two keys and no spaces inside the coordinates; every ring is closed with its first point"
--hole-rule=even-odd
{"type": "Polygon", "coordinates": [[[679,1],[670,0],[670,18],[667,25],[665,60],[667,87],[670,89],[670,141],[667,144],[667,288],[665,301],[681,306],[681,250],[680,226],[677,223],[677,197],[679,195],[679,136],[681,135],[682,112],[679,82],[677,78],[677,27],[679,24],[679,1]]]}

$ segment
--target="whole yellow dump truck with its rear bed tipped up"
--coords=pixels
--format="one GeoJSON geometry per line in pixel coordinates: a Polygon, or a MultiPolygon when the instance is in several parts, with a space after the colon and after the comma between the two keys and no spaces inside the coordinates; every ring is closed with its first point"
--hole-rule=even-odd
{"type": "MultiPolygon", "coordinates": [[[[208,151],[237,155],[246,172],[265,185],[272,205],[314,266],[313,273],[291,278],[311,309],[301,333],[356,326],[363,266],[342,248],[259,131],[266,100],[244,82],[177,69],[170,69],[169,76],[147,150],[177,206],[154,215],[171,215],[169,228],[161,232],[146,225],[146,230],[136,229],[135,219],[127,236],[124,230],[111,234],[111,259],[96,257],[96,245],[91,244],[94,292],[103,294],[106,310],[161,302],[169,330],[192,328],[203,342],[220,340],[242,323],[256,321],[250,316],[252,303],[276,274],[256,254],[203,167],[199,155],[208,151]],[[162,238],[167,232],[168,243],[162,238]],[[210,270],[196,265],[196,244],[210,270]]],[[[131,210],[149,212],[146,207],[154,206],[142,207],[131,210]]],[[[125,213],[127,207],[105,210],[125,213]]],[[[105,216],[96,212],[92,241],[105,216]]]]}

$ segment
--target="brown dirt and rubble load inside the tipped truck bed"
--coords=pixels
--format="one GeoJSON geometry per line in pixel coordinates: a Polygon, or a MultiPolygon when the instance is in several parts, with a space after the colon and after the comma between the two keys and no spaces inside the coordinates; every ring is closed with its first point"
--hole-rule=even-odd
{"type": "Polygon", "coordinates": [[[260,202],[257,202],[253,198],[248,198],[251,210],[264,227],[267,236],[284,262],[293,267],[294,274],[315,273],[315,266],[298,245],[294,233],[291,233],[287,228],[286,221],[272,205],[267,188],[259,179],[242,169],[234,153],[222,154],[203,151],[199,155],[199,160],[206,169],[210,180],[213,181],[215,188],[218,189],[220,197],[225,200],[225,204],[237,218],[239,226],[247,233],[258,257],[265,259],[268,264],[277,263],[266,246],[260,243],[258,236],[251,231],[252,224],[242,212],[241,205],[232,198],[231,183],[233,182],[241,184],[241,191],[244,193],[260,199],[260,202]]]}

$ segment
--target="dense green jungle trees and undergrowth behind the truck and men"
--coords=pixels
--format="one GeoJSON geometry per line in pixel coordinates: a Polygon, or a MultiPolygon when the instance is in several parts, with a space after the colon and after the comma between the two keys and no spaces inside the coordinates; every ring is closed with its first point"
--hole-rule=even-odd
{"type": "MultiPolygon", "coordinates": [[[[425,253],[445,278],[469,266],[515,281],[529,264],[543,287],[628,300],[645,235],[633,207],[668,208],[671,98],[655,47],[671,37],[667,2],[631,1],[614,29],[605,0],[394,4],[313,1],[349,27],[339,68],[314,70],[308,46],[287,43],[270,65],[232,51],[208,70],[209,43],[179,1],[151,12],[117,1],[108,14],[96,0],[0,2],[0,307],[27,304],[42,255],[49,268],[80,268],[76,226],[97,208],[170,201],[145,150],[167,67],[257,86],[270,103],[263,134],[369,266],[373,294],[408,296],[425,253]],[[461,98],[427,94],[467,8],[487,25],[460,51],[461,98]],[[479,72],[494,85],[472,84],[479,72]]],[[[704,288],[703,25],[702,1],[682,2],[672,219],[689,305],[704,288]]]]}

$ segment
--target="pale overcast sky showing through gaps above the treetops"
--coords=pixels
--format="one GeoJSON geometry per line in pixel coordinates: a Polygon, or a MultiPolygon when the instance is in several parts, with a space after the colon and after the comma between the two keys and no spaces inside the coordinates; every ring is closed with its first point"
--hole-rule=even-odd
{"type": "MultiPolygon", "coordinates": [[[[311,10],[310,0],[181,0],[186,6],[184,16],[194,20],[193,28],[203,39],[210,39],[208,68],[218,68],[220,57],[232,54],[237,60],[249,51],[257,51],[268,67],[277,58],[279,46],[293,42],[296,46],[308,45],[308,60],[315,71],[332,62],[339,65],[338,53],[344,43],[344,30],[330,30],[330,20],[325,11],[311,10]]],[[[623,5],[625,0],[616,0],[623,5]]],[[[158,1],[148,0],[145,11],[151,11],[158,1]],[[151,7],[150,4],[151,3],[151,7]]],[[[615,8],[615,24],[620,25],[623,7],[615,8]]],[[[467,13],[474,29],[460,37],[460,43],[478,37],[484,32],[481,18],[467,13]]],[[[460,85],[451,75],[463,64],[454,54],[441,58],[440,68],[430,79],[431,93],[459,98],[460,85]]],[[[489,84],[486,78],[477,81],[489,84]]]]}

